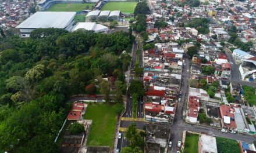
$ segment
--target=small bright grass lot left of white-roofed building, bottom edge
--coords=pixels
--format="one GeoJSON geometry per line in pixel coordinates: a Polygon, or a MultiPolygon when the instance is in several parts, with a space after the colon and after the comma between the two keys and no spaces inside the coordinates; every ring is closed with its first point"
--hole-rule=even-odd
{"type": "Polygon", "coordinates": [[[198,152],[198,134],[187,133],[184,153],[197,153],[198,152]]]}

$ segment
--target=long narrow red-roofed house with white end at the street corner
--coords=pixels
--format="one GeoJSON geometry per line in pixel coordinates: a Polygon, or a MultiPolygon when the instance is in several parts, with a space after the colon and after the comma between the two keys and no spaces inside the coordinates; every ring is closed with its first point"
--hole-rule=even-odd
{"type": "Polygon", "coordinates": [[[198,111],[200,109],[199,99],[200,97],[197,96],[189,96],[186,120],[191,123],[197,122],[198,111]]]}

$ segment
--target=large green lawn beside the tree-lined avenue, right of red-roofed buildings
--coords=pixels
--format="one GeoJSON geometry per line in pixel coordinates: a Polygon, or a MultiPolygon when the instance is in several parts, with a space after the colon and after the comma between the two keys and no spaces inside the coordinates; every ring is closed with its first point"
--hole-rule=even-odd
{"type": "Polygon", "coordinates": [[[84,118],[92,119],[93,123],[87,139],[87,145],[113,147],[117,119],[114,107],[106,103],[88,104],[84,118]]]}

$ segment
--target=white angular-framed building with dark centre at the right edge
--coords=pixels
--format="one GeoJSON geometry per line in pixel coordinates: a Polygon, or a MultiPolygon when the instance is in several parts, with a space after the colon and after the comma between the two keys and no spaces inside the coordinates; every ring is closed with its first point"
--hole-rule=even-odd
{"type": "Polygon", "coordinates": [[[239,66],[239,71],[242,79],[252,78],[256,79],[256,57],[251,57],[249,59],[244,59],[243,63],[239,66]]]}

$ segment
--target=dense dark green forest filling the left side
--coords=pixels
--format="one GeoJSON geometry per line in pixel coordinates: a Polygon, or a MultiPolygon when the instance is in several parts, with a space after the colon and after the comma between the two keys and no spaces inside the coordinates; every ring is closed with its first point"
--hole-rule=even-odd
{"type": "Polygon", "coordinates": [[[55,28],[0,38],[0,152],[58,152],[54,139],[74,94],[108,100],[115,92],[121,103],[133,41],[126,32],[55,28]],[[115,78],[114,91],[102,75],[115,78]]]}

